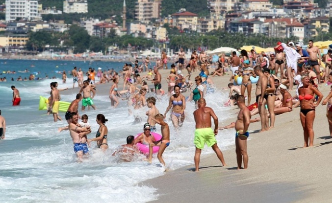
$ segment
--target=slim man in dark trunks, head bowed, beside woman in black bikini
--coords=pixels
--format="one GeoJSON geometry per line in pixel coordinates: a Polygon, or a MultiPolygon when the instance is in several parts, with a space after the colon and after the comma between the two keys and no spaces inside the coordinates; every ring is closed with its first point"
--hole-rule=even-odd
{"type": "Polygon", "coordinates": [[[258,112],[260,116],[261,123],[261,132],[269,130],[269,118],[266,114],[265,104],[266,99],[264,98],[264,94],[267,88],[267,77],[262,72],[262,68],[260,66],[256,66],[254,68],[255,74],[259,76],[259,79],[256,84],[256,102],[258,104],[258,112]]]}

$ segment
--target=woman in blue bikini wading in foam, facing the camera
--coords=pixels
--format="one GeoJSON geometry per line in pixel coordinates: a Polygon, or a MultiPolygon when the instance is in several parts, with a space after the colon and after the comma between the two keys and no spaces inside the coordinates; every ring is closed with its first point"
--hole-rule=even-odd
{"type": "Polygon", "coordinates": [[[174,127],[179,129],[182,127],[184,121],[184,110],[185,110],[185,97],[180,92],[180,86],[174,86],[175,94],[170,98],[169,105],[164,113],[164,117],[172,108],[171,119],[174,127]]]}

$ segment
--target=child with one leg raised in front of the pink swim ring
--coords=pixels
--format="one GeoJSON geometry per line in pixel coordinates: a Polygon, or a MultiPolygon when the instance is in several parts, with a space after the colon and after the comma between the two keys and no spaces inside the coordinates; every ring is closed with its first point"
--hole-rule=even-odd
{"type": "Polygon", "coordinates": [[[170,128],[168,124],[164,121],[164,116],[161,113],[158,113],[155,115],[155,117],[151,117],[156,123],[161,125],[161,139],[156,142],[152,142],[149,145],[149,159],[145,159],[149,163],[152,163],[152,152],[153,152],[153,147],[154,146],[159,146],[159,151],[157,158],[159,159],[160,163],[162,163],[164,166],[165,161],[162,159],[162,154],[164,153],[166,147],[170,145],[170,128]]]}

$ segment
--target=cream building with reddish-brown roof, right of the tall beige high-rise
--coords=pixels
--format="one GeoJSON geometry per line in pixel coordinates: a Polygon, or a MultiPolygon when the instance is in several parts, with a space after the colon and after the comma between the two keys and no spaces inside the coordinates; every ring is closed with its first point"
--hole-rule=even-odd
{"type": "Polygon", "coordinates": [[[172,14],[173,26],[180,30],[188,29],[197,31],[198,15],[181,9],[180,12],[172,14]]]}

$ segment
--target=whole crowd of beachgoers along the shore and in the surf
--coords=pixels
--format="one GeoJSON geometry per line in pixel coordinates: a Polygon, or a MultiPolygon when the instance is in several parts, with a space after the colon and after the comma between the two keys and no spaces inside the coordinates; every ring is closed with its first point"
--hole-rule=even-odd
{"type": "MultiPolygon", "coordinates": [[[[190,59],[187,60],[183,49],[180,49],[178,61],[171,65],[170,73],[166,77],[168,83],[167,94],[162,89],[162,75],[159,73],[159,69],[168,68],[167,57],[157,60],[156,66],[153,68],[149,68],[151,62],[148,57],[142,62],[142,65],[139,66],[136,60],[134,63],[125,64],[119,72],[113,69],[102,71],[102,68],[98,68],[95,71],[93,68],[89,68],[85,73],[87,80],[83,79],[84,72],[81,68],[77,70],[75,67],[71,71],[73,89],[75,89],[77,83],[80,90],[66,113],[68,126],[60,128],[59,131],[67,129],[70,131],[74,143],[74,151],[79,160],[85,154],[88,154],[88,145],[91,141],[96,141],[98,148],[103,151],[107,150],[108,129],[105,126],[107,119],[105,119],[103,114],[98,114],[96,121],[100,127],[96,137],[92,139],[87,138],[87,135],[91,133],[91,128],[90,125],[85,125],[87,123],[87,115],[85,114],[84,117],[83,115],[78,115],[78,104],[82,101],[81,111],[84,111],[86,106],[96,109],[93,102],[93,98],[96,95],[96,84],[112,81],[113,84],[109,90],[111,106],[116,108],[122,100],[128,100],[128,107],[132,107],[133,110],[141,109],[145,106],[149,108],[149,111],[146,112],[148,118],[147,123],[143,127],[144,132],[136,138],[128,136],[127,144],[120,146],[113,153],[114,156],[125,153],[123,157],[125,161],[132,160],[132,156],[139,153],[135,144],[140,142],[149,146],[146,160],[150,163],[152,162],[153,147],[159,146],[157,158],[165,165],[162,154],[170,144],[170,130],[164,118],[170,112],[172,124],[176,130],[179,130],[185,121],[186,102],[190,101],[193,101],[196,106],[196,111],[194,112],[196,122],[194,138],[196,171],[199,171],[201,150],[204,148],[205,143],[207,146],[212,147],[223,166],[226,165],[215,136],[219,130],[228,128],[235,128],[236,131],[237,168],[246,169],[248,167],[247,138],[249,137],[249,124],[260,121],[260,131],[268,131],[274,128],[276,115],[292,112],[293,108],[296,107],[300,107],[300,120],[304,130],[304,147],[313,146],[315,108],[323,100],[323,95],[318,90],[318,85],[328,81],[332,83],[332,50],[329,50],[327,55],[321,57],[319,49],[313,46],[312,41],[309,41],[306,50],[302,49],[302,47],[303,44],[301,43],[287,42],[278,43],[275,46],[275,53],[269,55],[264,52],[258,54],[255,52],[255,49],[251,50],[250,53],[246,50],[241,50],[240,57],[237,56],[236,52],[232,52],[229,58],[222,54],[215,65],[214,71],[211,71],[213,69],[211,67],[214,65],[209,63],[210,59],[204,51],[201,51],[200,54],[194,51],[190,59]],[[322,62],[326,63],[325,70],[320,69],[322,62]],[[230,78],[232,83],[229,84],[230,102],[227,105],[237,105],[240,111],[235,122],[229,126],[218,128],[218,117],[211,108],[206,106],[207,102],[205,99],[207,94],[214,92],[214,84],[211,77],[225,75],[228,68],[230,68],[232,74],[230,78]],[[182,74],[182,71],[185,70],[188,72],[186,76],[182,74]],[[194,79],[196,87],[194,87],[190,77],[196,71],[197,75],[195,75],[194,79]],[[140,75],[143,75],[144,72],[147,72],[147,74],[141,77],[140,75]],[[99,79],[98,82],[96,82],[97,78],[99,79]],[[241,83],[239,84],[240,78],[241,83]],[[122,90],[118,87],[120,80],[123,80],[122,90]],[[149,88],[149,81],[151,81],[154,88],[149,88]],[[253,89],[254,83],[256,84],[255,89],[253,89]],[[294,85],[297,86],[296,94],[292,96],[288,90],[293,90],[294,85]],[[251,100],[252,90],[255,90],[255,102],[251,100]],[[186,91],[190,92],[190,96],[187,98],[182,94],[186,91]],[[146,98],[147,92],[154,92],[155,95],[146,98]],[[163,114],[155,107],[161,95],[169,97],[168,106],[163,114]],[[260,118],[251,120],[251,116],[255,114],[259,114],[260,118]],[[80,117],[83,123],[78,123],[80,117]],[[214,130],[211,129],[211,118],[214,121],[214,130]],[[151,134],[156,131],[156,124],[161,126],[162,137],[158,140],[151,134]]],[[[66,82],[66,79],[66,73],[64,73],[63,82],[66,82]]],[[[50,109],[54,121],[60,119],[57,111],[60,95],[56,87],[56,83],[51,83],[50,109]]],[[[327,117],[330,133],[332,132],[331,97],[332,93],[322,103],[323,105],[329,104],[327,117]]],[[[13,100],[15,100],[14,97],[13,100]]],[[[129,113],[130,111],[129,108],[129,113]]]]}

